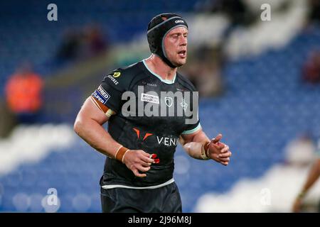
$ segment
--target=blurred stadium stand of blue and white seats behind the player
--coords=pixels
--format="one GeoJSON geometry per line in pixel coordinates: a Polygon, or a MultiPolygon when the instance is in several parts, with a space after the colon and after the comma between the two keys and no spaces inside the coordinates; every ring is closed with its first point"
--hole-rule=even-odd
{"type": "MultiPolygon", "coordinates": [[[[101,211],[105,157],[73,123],[106,74],[149,57],[146,27],[163,12],[186,18],[180,72],[200,92],[204,131],[233,152],[224,167],[178,146],[183,211],[291,211],[320,158],[319,0],[0,1],[1,212],[101,211]]],[[[302,211],[319,201],[317,182],[302,211]]]]}

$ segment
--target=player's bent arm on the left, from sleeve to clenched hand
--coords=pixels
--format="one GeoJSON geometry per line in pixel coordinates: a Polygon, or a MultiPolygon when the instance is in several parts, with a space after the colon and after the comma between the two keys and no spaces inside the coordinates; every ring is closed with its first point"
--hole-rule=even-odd
{"type": "Polygon", "coordinates": [[[109,111],[109,113],[111,111],[109,109],[102,111],[97,104],[95,98],[92,96],[85,100],[75,119],[75,133],[100,153],[111,158],[117,157],[117,159],[122,161],[137,177],[146,177],[145,173],[139,173],[139,171],[146,172],[150,170],[150,165],[154,160],[149,158],[149,154],[143,150],[129,150],[117,143],[102,126],[109,120],[109,117],[106,115],[107,111],[109,111]],[[123,155],[119,158],[117,154],[122,151],[123,155]]]}

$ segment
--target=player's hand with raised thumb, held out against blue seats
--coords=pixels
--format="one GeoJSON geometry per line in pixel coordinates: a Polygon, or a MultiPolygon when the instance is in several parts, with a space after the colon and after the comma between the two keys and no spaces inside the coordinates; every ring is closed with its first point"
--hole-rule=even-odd
{"type": "Polygon", "coordinates": [[[215,138],[213,138],[210,141],[208,147],[208,155],[211,159],[215,160],[216,162],[219,162],[222,165],[228,165],[232,153],[229,150],[228,145],[225,145],[225,143],[220,142],[221,138],[222,135],[218,134],[215,138]]]}

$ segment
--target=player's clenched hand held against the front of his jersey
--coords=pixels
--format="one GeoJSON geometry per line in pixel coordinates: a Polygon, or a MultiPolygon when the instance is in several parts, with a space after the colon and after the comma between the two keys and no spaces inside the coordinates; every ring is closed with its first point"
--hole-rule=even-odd
{"type": "Polygon", "coordinates": [[[150,170],[152,163],[156,163],[154,158],[156,155],[150,155],[143,150],[129,150],[124,155],[123,163],[131,170],[137,177],[146,177],[145,173],[150,170]],[[139,172],[140,171],[140,172],[139,172]]]}

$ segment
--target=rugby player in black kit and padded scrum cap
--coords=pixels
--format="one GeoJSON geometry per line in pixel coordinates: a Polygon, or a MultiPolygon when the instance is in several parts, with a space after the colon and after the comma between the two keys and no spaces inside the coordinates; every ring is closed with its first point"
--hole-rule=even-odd
{"type": "Polygon", "coordinates": [[[103,212],[181,212],[173,178],[178,141],[198,160],[230,161],[222,135],[210,140],[203,132],[198,93],[177,72],[187,59],[186,21],[161,13],[149,22],[147,38],[151,56],[108,74],[75,120],[75,132],[107,156],[103,212]]]}

